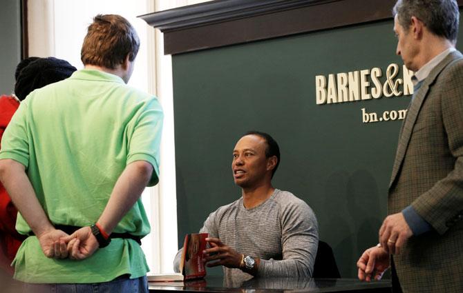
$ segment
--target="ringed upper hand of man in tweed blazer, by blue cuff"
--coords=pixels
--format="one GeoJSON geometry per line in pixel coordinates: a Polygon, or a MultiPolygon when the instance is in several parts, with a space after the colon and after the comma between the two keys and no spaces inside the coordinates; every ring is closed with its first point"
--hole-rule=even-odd
{"type": "Polygon", "coordinates": [[[401,212],[387,216],[379,229],[379,243],[390,254],[399,254],[411,236],[413,232],[401,212]]]}

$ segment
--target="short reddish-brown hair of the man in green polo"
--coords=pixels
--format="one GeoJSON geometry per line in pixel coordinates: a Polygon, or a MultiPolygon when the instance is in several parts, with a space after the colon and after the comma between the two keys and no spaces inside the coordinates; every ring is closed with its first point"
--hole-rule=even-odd
{"type": "Polygon", "coordinates": [[[135,60],[138,48],[140,39],[129,21],[117,14],[98,14],[88,26],[80,59],[84,65],[115,69],[127,55],[135,60]]]}

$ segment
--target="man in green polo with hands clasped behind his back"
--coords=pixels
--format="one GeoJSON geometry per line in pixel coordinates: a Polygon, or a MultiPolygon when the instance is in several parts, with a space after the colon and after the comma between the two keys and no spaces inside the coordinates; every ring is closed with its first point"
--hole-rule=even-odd
{"type": "Polygon", "coordinates": [[[30,235],[12,264],[27,292],[148,292],[140,195],[158,183],[163,114],[126,85],[139,46],[126,19],[97,15],[84,70],[32,92],[3,135],[0,180],[30,235]]]}

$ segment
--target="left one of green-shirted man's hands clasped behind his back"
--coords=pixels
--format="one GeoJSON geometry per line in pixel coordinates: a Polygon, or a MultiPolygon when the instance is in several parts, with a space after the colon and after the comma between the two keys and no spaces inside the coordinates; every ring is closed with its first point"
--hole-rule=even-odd
{"type": "Polygon", "coordinates": [[[66,259],[68,250],[66,241],[62,240],[66,236],[69,235],[62,230],[53,229],[37,235],[37,239],[39,239],[41,250],[46,257],[50,259],[66,259]]]}

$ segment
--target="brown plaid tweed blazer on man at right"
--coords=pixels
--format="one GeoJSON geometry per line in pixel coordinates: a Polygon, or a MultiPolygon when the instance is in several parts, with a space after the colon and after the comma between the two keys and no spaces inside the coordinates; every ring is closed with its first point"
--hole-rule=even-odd
{"type": "Polygon", "coordinates": [[[452,52],[424,80],[402,125],[388,214],[412,205],[433,231],[394,257],[404,292],[463,292],[463,55],[452,52]]]}

